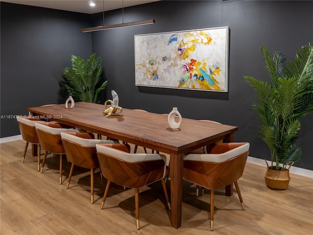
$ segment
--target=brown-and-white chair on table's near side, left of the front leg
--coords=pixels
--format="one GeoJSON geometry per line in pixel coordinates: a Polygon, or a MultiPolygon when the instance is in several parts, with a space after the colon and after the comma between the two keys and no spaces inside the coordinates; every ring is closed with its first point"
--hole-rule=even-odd
{"type": "Polygon", "coordinates": [[[136,224],[139,229],[139,188],[161,180],[169,210],[171,204],[165,186],[166,157],[160,154],[132,154],[128,144],[97,144],[97,156],[103,176],[108,179],[101,209],[110,184],[134,188],[136,224]]]}

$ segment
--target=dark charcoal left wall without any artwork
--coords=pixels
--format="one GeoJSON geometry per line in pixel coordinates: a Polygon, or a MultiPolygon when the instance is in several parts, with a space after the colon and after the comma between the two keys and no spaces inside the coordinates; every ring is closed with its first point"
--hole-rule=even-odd
{"type": "Polygon", "coordinates": [[[16,120],[27,107],[58,101],[70,55],[88,58],[89,15],[1,2],[1,138],[20,134],[16,120]]]}

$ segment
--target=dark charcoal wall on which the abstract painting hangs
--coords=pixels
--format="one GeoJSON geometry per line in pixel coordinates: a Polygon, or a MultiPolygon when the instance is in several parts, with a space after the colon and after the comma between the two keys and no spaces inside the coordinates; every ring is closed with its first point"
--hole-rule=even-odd
{"type": "MultiPolygon", "coordinates": [[[[102,13],[92,26],[102,25],[102,13]]],[[[255,93],[244,75],[268,80],[259,47],[284,53],[287,59],[313,41],[313,1],[158,1],[124,9],[124,22],[155,19],[156,24],[91,33],[92,52],[103,57],[108,79],[107,96],[115,90],[120,106],[169,113],[178,107],[182,117],[212,119],[235,125],[235,141],[251,144],[250,156],[268,159],[269,151],[257,136],[260,120],[251,103],[255,93]],[[201,92],[136,87],[134,35],[229,26],[229,92],[201,92]]],[[[105,13],[105,24],[119,24],[121,10],[105,13]]],[[[298,144],[303,156],[296,166],[313,169],[313,113],[302,118],[298,144]]]]}

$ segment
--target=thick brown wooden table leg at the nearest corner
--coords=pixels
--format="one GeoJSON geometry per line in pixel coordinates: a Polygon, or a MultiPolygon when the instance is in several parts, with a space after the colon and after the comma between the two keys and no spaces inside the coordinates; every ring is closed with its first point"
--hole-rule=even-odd
{"type": "Polygon", "coordinates": [[[181,226],[181,207],[182,207],[182,170],[183,154],[171,152],[170,154],[170,173],[171,173],[171,207],[172,207],[172,226],[178,229],[181,226]]]}

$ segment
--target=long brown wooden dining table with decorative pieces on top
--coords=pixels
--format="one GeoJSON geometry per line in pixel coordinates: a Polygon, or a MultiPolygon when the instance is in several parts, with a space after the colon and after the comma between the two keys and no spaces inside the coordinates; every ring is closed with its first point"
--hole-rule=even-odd
{"type": "MultiPolygon", "coordinates": [[[[64,104],[27,108],[30,115],[58,121],[87,132],[137,144],[170,155],[171,224],[181,226],[183,155],[202,146],[223,140],[232,142],[236,126],[182,118],[179,129],[169,126],[167,116],[124,109],[120,115],[106,117],[104,105],[76,102],[74,108],[64,104]]],[[[226,195],[232,194],[226,187],[226,195]]]]}

